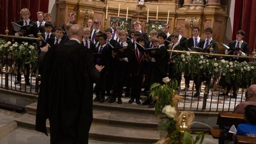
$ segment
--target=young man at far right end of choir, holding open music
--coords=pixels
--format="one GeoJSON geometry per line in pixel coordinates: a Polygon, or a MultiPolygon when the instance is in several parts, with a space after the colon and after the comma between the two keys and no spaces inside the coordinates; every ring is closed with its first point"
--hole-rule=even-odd
{"type": "MultiPolygon", "coordinates": [[[[236,36],[236,40],[233,40],[232,42],[230,42],[228,44],[228,47],[232,48],[232,47],[239,47],[240,50],[239,51],[228,51],[227,49],[225,50],[225,54],[229,54],[229,55],[238,55],[238,56],[247,56],[248,55],[248,51],[249,51],[249,46],[248,43],[243,41],[242,38],[244,37],[245,33],[243,30],[239,30],[237,31],[237,36],[236,36]]],[[[243,62],[246,61],[246,59],[243,58],[230,58],[228,60],[231,61],[238,61],[238,62],[243,62]]],[[[227,93],[222,93],[221,95],[228,95],[231,86],[233,87],[233,97],[236,97],[236,90],[237,87],[239,87],[240,83],[238,83],[237,78],[235,77],[234,80],[231,81],[231,83],[227,83],[225,80],[225,76],[221,77],[221,83],[223,86],[227,86],[227,93]],[[232,84],[232,85],[231,85],[232,84]]],[[[242,83],[244,83],[242,81],[242,83]]],[[[243,84],[242,84],[243,85],[243,84]]]]}

